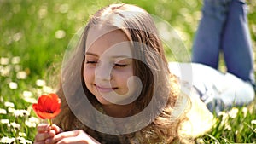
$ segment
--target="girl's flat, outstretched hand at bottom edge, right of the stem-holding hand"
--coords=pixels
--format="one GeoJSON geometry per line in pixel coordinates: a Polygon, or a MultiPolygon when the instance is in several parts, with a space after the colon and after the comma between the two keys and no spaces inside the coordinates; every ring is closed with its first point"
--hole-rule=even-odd
{"type": "Polygon", "coordinates": [[[56,143],[56,144],[99,144],[94,138],[86,134],[83,130],[65,131],[60,134],[49,138],[45,143],[56,143]]]}

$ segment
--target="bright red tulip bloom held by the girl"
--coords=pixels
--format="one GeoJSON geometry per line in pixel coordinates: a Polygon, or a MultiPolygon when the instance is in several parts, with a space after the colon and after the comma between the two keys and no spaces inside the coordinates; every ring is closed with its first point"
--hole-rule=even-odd
{"type": "Polygon", "coordinates": [[[39,118],[49,119],[51,124],[51,119],[61,112],[61,99],[56,94],[41,95],[32,108],[39,118]]]}

